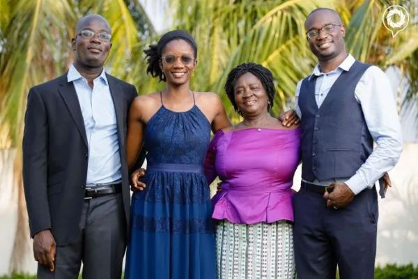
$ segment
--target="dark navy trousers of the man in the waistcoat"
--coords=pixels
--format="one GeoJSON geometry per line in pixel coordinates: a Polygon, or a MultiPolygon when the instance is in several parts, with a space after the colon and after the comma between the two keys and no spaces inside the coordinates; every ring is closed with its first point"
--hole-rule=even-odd
{"type": "Polygon", "coordinates": [[[301,188],[293,196],[297,279],[374,278],[378,199],[363,190],[343,209],[327,208],[320,193],[301,188]]]}

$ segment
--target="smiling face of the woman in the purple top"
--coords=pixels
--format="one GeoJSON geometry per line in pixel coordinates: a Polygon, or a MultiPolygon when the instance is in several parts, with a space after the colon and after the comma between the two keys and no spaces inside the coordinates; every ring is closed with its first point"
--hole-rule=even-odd
{"type": "Polygon", "coordinates": [[[241,75],[233,86],[235,103],[242,116],[267,113],[268,96],[263,84],[252,73],[241,75]]]}

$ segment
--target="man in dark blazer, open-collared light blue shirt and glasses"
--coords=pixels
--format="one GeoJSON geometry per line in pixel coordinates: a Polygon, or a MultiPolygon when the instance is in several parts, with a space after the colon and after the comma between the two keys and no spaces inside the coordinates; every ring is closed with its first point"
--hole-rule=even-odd
{"type": "Polygon", "coordinates": [[[23,178],[38,278],[121,278],[130,191],[127,112],[137,91],[104,73],[111,28],[77,23],[67,73],[29,91],[23,178]]]}

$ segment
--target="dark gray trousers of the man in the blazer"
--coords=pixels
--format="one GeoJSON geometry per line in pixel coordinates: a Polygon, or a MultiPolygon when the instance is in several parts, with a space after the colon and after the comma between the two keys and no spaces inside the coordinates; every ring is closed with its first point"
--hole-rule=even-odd
{"type": "Polygon", "coordinates": [[[54,272],[38,264],[38,278],[78,278],[82,263],[83,278],[121,278],[125,247],[122,195],[86,199],[77,240],[56,247],[54,272]]]}

